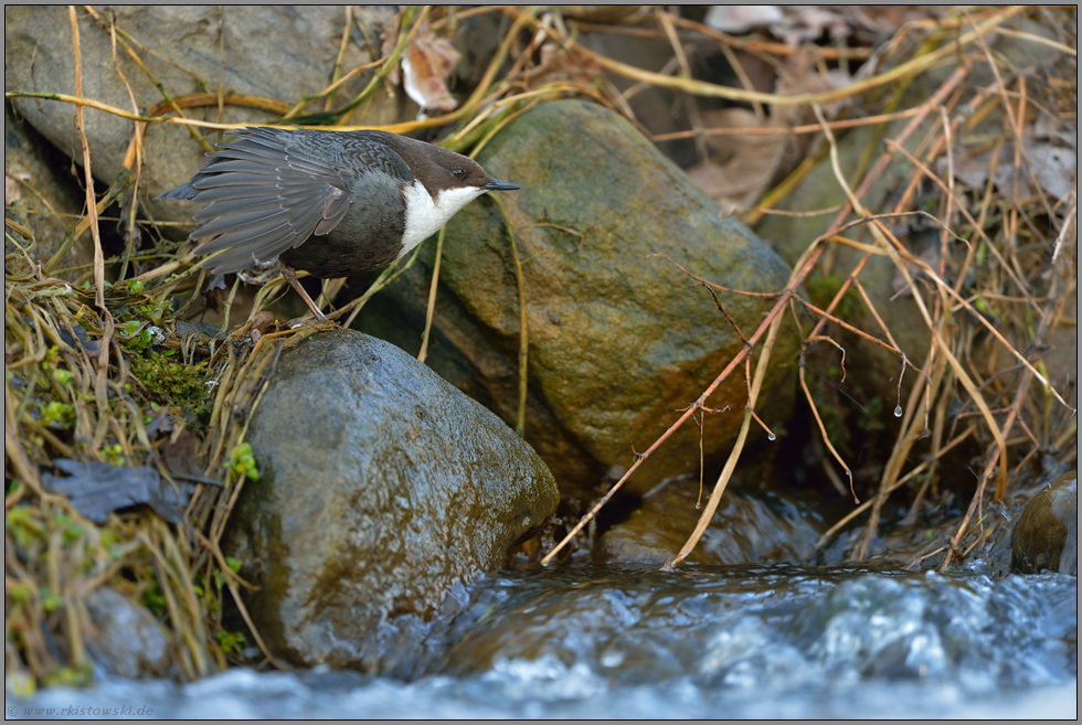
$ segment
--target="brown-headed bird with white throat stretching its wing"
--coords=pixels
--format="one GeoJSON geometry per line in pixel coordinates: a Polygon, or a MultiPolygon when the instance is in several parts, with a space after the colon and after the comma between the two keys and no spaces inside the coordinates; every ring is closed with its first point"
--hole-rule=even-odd
{"type": "Polygon", "coordinates": [[[473,159],[385,131],[250,127],[219,143],[210,163],[158,199],[210,202],[194,218],[195,254],[214,274],[276,263],[318,320],[294,269],[332,278],[384,267],[486,191],[473,159]],[[208,238],[211,237],[211,238],[208,238]]]}

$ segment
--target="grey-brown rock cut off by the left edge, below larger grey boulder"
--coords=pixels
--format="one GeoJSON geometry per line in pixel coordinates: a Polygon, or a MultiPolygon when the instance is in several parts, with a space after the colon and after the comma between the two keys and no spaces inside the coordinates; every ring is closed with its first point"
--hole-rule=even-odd
{"type": "MultiPolygon", "coordinates": [[[[50,159],[49,145],[29,124],[3,104],[4,216],[30,232],[30,238],[7,226],[4,255],[21,246],[32,260],[47,262],[61,248],[66,227],[83,211],[76,179],[50,159]]],[[[94,262],[87,245],[74,244],[57,259],[57,268],[94,262]]]]}

